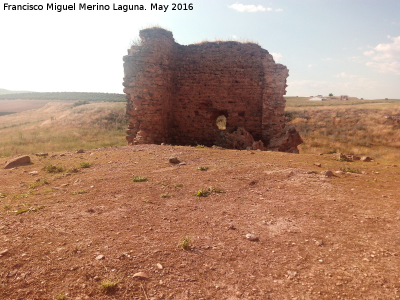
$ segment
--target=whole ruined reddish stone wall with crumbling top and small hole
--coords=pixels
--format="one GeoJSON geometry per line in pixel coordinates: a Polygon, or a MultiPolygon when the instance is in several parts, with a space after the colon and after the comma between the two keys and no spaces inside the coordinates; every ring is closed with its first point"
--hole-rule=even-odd
{"type": "MultiPolygon", "coordinates": [[[[275,139],[273,149],[282,150],[275,144],[287,135],[288,70],[267,50],[236,41],[180,45],[161,28],[140,30],[139,36],[141,44],[123,57],[129,144],[213,145],[244,128],[265,146],[275,139]],[[220,115],[225,130],[215,123],[220,115]]],[[[283,151],[296,152],[297,145],[283,151]]]]}

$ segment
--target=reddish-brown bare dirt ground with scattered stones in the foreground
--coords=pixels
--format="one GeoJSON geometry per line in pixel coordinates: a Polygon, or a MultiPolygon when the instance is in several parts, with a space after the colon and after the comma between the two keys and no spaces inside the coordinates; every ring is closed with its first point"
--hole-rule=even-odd
{"type": "Polygon", "coordinates": [[[400,298],[398,162],[167,145],[59,154],[0,169],[0,299],[400,298]],[[319,173],[342,167],[367,174],[319,173]]]}

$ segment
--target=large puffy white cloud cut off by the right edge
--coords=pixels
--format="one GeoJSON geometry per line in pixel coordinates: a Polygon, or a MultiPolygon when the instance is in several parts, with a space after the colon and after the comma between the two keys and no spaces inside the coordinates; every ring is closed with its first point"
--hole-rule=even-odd
{"type": "Polygon", "coordinates": [[[400,75],[400,36],[387,35],[387,38],[392,42],[380,43],[373,50],[364,52],[371,59],[366,65],[382,73],[400,75]]]}

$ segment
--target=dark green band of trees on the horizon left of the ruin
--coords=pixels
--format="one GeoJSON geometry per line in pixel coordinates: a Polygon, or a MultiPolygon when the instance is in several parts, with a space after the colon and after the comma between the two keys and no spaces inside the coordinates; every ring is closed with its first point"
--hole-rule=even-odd
{"type": "Polygon", "coordinates": [[[65,101],[105,101],[105,102],[124,102],[125,94],[107,92],[26,92],[0,95],[0,100],[65,100],[65,101]]]}

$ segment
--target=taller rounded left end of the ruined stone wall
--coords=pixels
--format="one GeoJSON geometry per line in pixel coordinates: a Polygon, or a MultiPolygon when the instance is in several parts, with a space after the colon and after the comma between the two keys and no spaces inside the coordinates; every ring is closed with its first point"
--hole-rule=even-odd
{"type": "Polygon", "coordinates": [[[176,43],[168,31],[142,33],[142,46],[123,57],[129,143],[166,141],[171,125],[169,102],[174,88],[176,43]]]}

